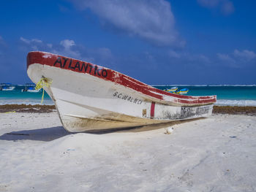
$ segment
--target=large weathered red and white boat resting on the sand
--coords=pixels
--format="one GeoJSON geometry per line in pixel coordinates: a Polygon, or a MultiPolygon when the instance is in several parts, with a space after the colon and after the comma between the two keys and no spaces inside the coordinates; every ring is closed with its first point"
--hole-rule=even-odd
{"type": "Polygon", "coordinates": [[[217,96],[184,96],[146,85],[112,69],[33,51],[27,73],[56,105],[67,131],[128,128],[211,115],[217,96]]]}

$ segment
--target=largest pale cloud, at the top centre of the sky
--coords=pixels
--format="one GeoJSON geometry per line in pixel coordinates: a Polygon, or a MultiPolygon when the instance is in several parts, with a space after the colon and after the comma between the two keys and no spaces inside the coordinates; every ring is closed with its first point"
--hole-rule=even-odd
{"type": "Polygon", "coordinates": [[[183,47],[170,3],[165,0],[69,0],[79,9],[91,9],[102,23],[158,46],[183,47]]]}

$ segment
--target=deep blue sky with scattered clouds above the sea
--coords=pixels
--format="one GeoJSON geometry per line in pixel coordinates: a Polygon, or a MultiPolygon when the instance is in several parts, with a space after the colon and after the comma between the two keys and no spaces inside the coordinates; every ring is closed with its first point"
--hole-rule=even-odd
{"type": "Polygon", "coordinates": [[[30,82],[32,50],[148,84],[256,84],[254,0],[1,1],[0,82],[30,82]]]}

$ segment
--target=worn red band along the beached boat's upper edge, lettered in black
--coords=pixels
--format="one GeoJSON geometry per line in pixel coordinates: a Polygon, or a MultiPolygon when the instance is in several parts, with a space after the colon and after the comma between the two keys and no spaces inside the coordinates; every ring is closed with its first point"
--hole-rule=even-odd
{"type": "Polygon", "coordinates": [[[217,101],[216,96],[184,96],[168,93],[111,69],[52,53],[39,51],[30,52],[27,55],[27,68],[29,68],[31,64],[42,64],[67,69],[73,72],[91,74],[92,76],[124,85],[127,88],[132,88],[135,91],[139,91],[155,99],[164,100],[163,96],[173,96],[176,99],[175,102],[180,104],[206,104],[217,101]]]}

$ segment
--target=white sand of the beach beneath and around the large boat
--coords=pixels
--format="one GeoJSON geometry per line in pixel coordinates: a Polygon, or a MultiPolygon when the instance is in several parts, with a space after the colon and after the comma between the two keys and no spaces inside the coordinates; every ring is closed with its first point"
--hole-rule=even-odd
{"type": "Polygon", "coordinates": [[[256,117],[164,127],[69,134],[56,112],[0,114],[0,191],[256,191],[256,117]]]}

